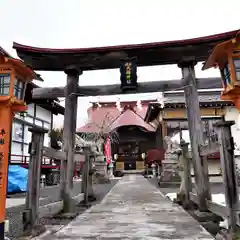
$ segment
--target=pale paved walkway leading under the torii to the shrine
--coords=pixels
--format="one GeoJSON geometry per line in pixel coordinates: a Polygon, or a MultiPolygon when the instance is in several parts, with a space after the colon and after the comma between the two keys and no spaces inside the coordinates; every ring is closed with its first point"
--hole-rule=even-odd
{"type": "MultiPolygon", "coordinates": [[[[40,239],[40,238],[38,238],[40,239]]],[[[124,176],[103,201],[41,239],[214,239],[141,175],[124,176]]]]}

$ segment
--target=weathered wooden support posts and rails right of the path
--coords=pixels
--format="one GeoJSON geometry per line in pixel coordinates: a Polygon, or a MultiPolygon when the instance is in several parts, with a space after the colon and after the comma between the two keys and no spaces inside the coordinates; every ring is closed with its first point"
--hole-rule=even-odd
{"type": "MultiPolygon", "coordinates": [[[[225,121],[224,118],[216,122],[212,127],[215,130],[214,138],[206,144],[199,146],[199,155],[201,159],[207,155],[220,151],[221,169],[223,177],[223,185],[225,190],[226,206],[219,205],[211,200],[211,194],[204,198],[204,204],[207,206],[206,210],[221,216],[228,220],[229,230],[235,232],[240,226],[239,221],[239,199],[238,199],[238,183],[236,174],[236,165],[234,159],[234,142],[231,135],[231,126],[233,121],[225,121]]],[[[206,142],[206,141],[205,141],[206,142]]],[[[191,156],[188,152],[188,143],[181,142],[182,148],[182,163],[183,163],[183,193],[186,206],[191,205],[191,201],[200,206],[202,203],[202,196],[193,192],[193,183],[191,181],[191,156]]],[[[199,179],[195,174],[196,184],[199,181],[208,181],[208,179],[199,179]]]]}

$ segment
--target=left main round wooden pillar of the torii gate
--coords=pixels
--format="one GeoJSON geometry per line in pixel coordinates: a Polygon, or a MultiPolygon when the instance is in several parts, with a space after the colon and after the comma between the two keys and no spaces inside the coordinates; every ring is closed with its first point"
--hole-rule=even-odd
{"type": "Polygon", "coordinates": [[[67,166],[62,166],[61,190],[63,198],[63,211],[71,212],[71,189],[73,187],[75,134],[77,120],[76,90],[78,87],[80,72],[76,67],[71,66],[65,70],[65,73],[67,74],[67,85],[65,88],[63,150],[66,152],[67,166]]]}

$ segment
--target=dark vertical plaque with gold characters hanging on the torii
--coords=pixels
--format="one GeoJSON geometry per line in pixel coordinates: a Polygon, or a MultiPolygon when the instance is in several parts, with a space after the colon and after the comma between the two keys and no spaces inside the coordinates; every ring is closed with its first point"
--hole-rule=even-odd
{"type": "Polygon", "coordinates": [[[120,80],[122,90],[137,88],[136,58],[124,59],[120,64],[120,80]]]}

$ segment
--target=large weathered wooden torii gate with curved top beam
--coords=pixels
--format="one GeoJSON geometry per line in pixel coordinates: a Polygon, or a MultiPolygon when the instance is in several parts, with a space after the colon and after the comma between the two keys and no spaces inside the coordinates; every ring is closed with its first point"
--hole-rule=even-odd
{"type": "Polygon", "coordinates": [[[46,49],[13,44],[18,56],[34,70],[65,71],[65,88],[41,88],[33,90],[33,98],[65,97],[64,151],[67,153],[67,180],[64,182],[64,198],[70,200],[73,176],[73,148],[77,116],[77,97],[129,93],[123,92],[120,85],[78,86],[83,71],[119,68],[121,60],[135,58],[137,66],[178,64],[182,69],[183,80],[138,83],[130,93],[146,93],[184,89],[189,130],[192,142],[196,192],[200,210],[207,210],[205,199],[210,199],[207,162],[199,155],[198,146],[203,143],[201,117],[197,88],[221,88],[220,78],[196,79],[194,66],[205,61],[209,51],[225,40],[231,39],[236,31],[180,41],[158,42],[137,45],[85,49],[46,49]],[[202,181],[203,179],[203,181],[202,181]]]}

